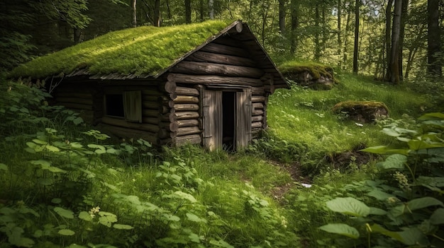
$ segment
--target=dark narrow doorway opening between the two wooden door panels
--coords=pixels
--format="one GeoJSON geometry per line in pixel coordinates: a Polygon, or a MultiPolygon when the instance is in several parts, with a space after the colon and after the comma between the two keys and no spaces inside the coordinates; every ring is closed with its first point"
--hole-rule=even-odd
{"type": "Polygon", "coordinates": [[[235,92],[222,93],[222,147],[235,150],[235,92]]]}

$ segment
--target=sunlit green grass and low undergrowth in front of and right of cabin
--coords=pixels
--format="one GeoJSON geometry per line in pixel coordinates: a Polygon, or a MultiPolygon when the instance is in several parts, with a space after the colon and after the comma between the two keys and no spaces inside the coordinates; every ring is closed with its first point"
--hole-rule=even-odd
{"type": "Polygon", "coordinates": [[[405,123],[406,114],[429,107],[405,85],[345,74],[333,90],[278,90],[270,97],[270,131],[248,150],[156,153],[143,142],[85,133],[75,114],[48,110],[23,85],[11,88],[0,98],[0,148],[7,151],[0,159],[0,247],[329,247],[317,228],[340,217],[325,201],[376,169],[355,153],[343,167],[328,158],[392,142],[381,126],[357,125],[331,107],[382,101],[405,123]]]}

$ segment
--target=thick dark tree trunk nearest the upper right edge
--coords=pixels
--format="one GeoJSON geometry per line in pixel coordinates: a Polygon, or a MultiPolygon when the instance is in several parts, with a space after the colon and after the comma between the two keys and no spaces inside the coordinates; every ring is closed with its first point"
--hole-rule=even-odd
{"type": "Polygon", "coordinates": [[[443,54],[441,54],[440,26],[439,26],[439,1],[427,1],[427,72],[431,76],[443,76],[443,54]]]}

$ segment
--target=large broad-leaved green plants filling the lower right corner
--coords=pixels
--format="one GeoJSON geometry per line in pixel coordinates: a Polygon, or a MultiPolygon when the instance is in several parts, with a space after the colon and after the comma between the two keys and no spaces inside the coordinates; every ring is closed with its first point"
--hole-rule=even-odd
{"type": "Polygon", "coordinates": [[[419,120],[417,130],[384,129],[403,146],[364,149],[391,155],[379,163],[381,173],[375,179],[349,184],[345,186],[349,197],[327,201],[331,211],[353,217],[341,223],[338,231],[331,226],[338,224],[321,230],[352,237],[350,244],[366,247],[443,245],[444,114],[424,114],[419,120]]]}

